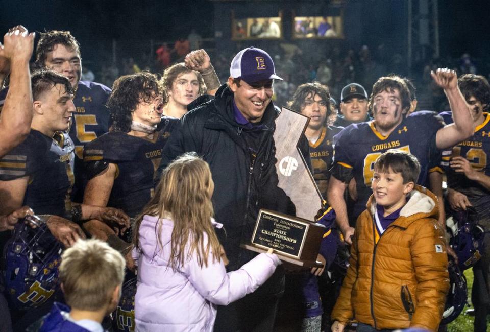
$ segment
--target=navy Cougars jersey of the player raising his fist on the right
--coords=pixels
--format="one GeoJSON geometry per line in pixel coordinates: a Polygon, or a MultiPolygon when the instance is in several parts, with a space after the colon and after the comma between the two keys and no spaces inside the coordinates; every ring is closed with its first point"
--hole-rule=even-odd
{"type": "Polygon", "coordinates": [[[435,145],[437,130],[444,126],[443,119],[435,112],[419,111],[403,119],[388,136],[381,135],[374,121],[352,124],[335,136],[335,155],[331,175],[349,183],[354,177],[358,199],[354,206],[353,222],[366,208],[372,194],[371,180],[376,159],[389,149],[400,149],[413,154],[421,164],[418,184],[426,185],[432,165],[440,160],[435,145]]]}

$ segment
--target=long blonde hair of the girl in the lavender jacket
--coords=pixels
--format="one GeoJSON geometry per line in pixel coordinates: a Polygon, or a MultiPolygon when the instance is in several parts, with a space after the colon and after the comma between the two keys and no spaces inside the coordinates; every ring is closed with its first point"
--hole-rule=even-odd
{"type": "Polygon", "coordinates": [[[144,215],[158,217],[155,225],[160,248],[162,219],[171,218],[174,230],[170,243],[170,266],[175,270],[182,266],[185,248],[188,246],[189,257],[195,250],[198,264],[207,266],[209,251],[212,251],[213,262],[220,260],[220,245],[211,217],[214,215],[209,194],[211,171],[206,161],[193,153],[178,157],[163,171],[155,195],[146,204],[134,225],[133,244],[139,250],[139,227],[144,215]],[[204,245],[204,234],[208,241],[204,245]]]}

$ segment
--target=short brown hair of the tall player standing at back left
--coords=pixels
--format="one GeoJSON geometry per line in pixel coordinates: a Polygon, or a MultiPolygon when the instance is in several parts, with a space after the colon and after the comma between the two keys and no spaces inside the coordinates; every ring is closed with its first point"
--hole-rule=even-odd
{"type": "Polygon", "coordinates": [[[53,51],[58,44],[62,44],[80,55],[80,44],[69,31],[52,30],[41,33],[41,38],[39,38],[36,46],[36,63],[44,65],[47,53],[53,51]]]}

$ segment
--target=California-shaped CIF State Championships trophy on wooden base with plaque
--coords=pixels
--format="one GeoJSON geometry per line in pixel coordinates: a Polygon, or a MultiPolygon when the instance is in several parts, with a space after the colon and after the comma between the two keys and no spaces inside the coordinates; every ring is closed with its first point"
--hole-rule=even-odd
{"type": "Polygon", "coordinates": [[[283,262],[302,268],[323,266],[316,258],[326,231],[325,226],[312,222],[322,209],[323,198],[298,148],[309,120],[283,107],[274,132],[278,185],[295,204],[297,217],[262,209],[251,242],[242,244],[256,252],[273,248],[283,262]]]}

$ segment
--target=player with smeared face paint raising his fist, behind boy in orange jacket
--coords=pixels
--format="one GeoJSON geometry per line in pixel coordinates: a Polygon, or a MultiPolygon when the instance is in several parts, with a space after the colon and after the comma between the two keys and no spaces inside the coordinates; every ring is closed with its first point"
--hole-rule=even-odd
{"type": "Polygon", "coordinates": [[[443,125],[433,112],[410,109],[410,92],[398,76],[382,77],[373,86],[370,106],[374,121],[352,124],[336,136],[334,164],[328,187],[328,201],[337,213],[337,223],[345,241],[351,243],[354,220],[364,209],[370,195],[373,165],[376,158],[388,149],[405,149],[414,154],[422,165],[419,183],[426,182],[430,160],[437,149],[451,147],[473,134],[473,119],[464,100],[453,70],[438,69],[431,74],[448,97],[455,123],[443,125]],[[416,115],[416,116],[415,116],[416,115]],[[355,178],[357,204],[349,224],[344,192],[355,178]]]}

